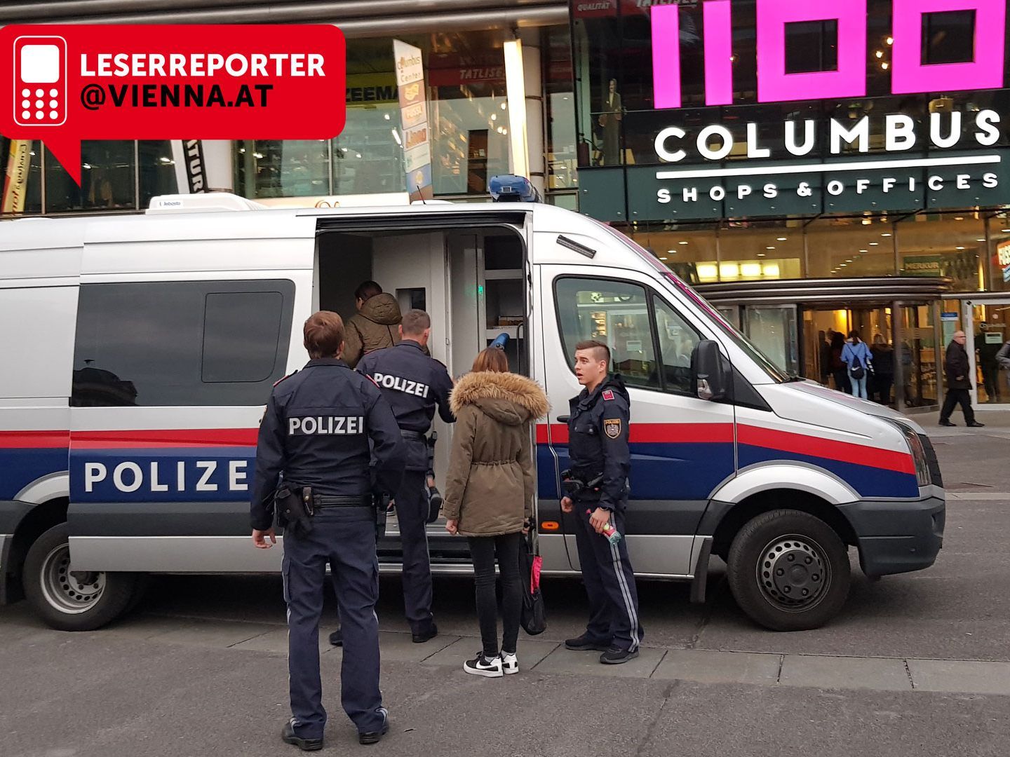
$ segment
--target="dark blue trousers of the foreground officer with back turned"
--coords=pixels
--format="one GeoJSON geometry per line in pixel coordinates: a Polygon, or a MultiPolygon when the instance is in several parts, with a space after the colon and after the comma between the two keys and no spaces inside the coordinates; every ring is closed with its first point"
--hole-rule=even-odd
{"type": "Polygon", "coordinates": [[[288,679],[292,726],[321,739],[326,725],[319,674],[319,616],[329,563],[343,626],[340,698],[358,730],[379,731],[386,712],[379,690],[379,558],[372,508],[323,508],[306,536],[284,534],[288,604],[288,679]]]}

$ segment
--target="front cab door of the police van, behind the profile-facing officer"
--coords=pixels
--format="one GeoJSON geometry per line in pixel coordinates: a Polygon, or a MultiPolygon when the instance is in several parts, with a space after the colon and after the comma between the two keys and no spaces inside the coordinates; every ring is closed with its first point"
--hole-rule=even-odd
{"type": "MultiPolygon", "coordinates": [[[[559,473],[569,467],[568,427],[557,418],[568,415],[569,398],[582,389],[572,368],[575,345],[583,339],[606,342],[631,400],[626,538],[635,572],[691,575],[695,534],[709,495],[735,470],[733,406],[691,391],[691,353],[701,339],[715,336],[644,274],[543,265],[540,281],[552,411],[538,441],[545,442],[559,473]],[[579,271],[591,273],[574,273],[579,271]]],[[[542,474],[540,481],[543,521],[542,474]]],[[[550,492],[554,509],[561,494],[550,492]]],[[[565,516],[563,524],[569,559],[578,568],[572,517],[565,516]]]]}

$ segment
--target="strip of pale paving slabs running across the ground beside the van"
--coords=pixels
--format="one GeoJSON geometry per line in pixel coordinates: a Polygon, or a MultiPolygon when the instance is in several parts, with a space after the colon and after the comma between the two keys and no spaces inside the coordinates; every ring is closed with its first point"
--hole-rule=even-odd
{"type": "MultiPolygon", "coordinates": [[[[67,634],[39,626],[21,608],[0,616],[5,640],[46,642],[57,639],[140,641],[229,652],[266,652],[285,656],[287,628],[269,623],[245,623],[141,616],[101,631],[67,634]]],[[[383,631],[380,648],[384,662],[458,668],[481,646],[471,636],[439,635],[414,644],[407,633],[383,631]]],[[[339,660],[342,650],[319,642],[327,659],[339,660]]],[[[762,686],[804,686],[821,689],[876,691],[941,691],[1010,696],[1010,662],[892,657],[849,657],[811,654],[768,654],[745,651],[641,648],[637,659],[623,665],[602,665],[598,654],[572,652],[558,640],[522,635],[519,659],[523,670],[551,675],[589,675],[601,678],[650,678],[696,683],[744,683],[762,686]]]]}

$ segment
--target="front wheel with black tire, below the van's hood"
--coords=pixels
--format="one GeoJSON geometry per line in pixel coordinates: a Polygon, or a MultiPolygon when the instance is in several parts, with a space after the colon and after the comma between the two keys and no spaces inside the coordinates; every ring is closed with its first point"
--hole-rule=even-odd
{"type": "Polygon", "coordinates": [[[824,521],[798,510],[774,510],[745,523],[727,564],[736,604],[772,631],[820,628],[848,598],[847,547],[824,521]]]}

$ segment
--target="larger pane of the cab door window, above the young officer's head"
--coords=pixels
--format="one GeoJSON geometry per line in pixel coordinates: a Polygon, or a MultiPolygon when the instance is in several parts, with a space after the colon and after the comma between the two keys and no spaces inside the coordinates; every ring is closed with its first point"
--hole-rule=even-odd
{"type": "Polygon", "coordinates": [[[662,389],[644,287],[566,277],[554,284],[554,302],[570,363],[576,344],[599,339],[610,347],[613,369],[628,386],[662,389]]]}

